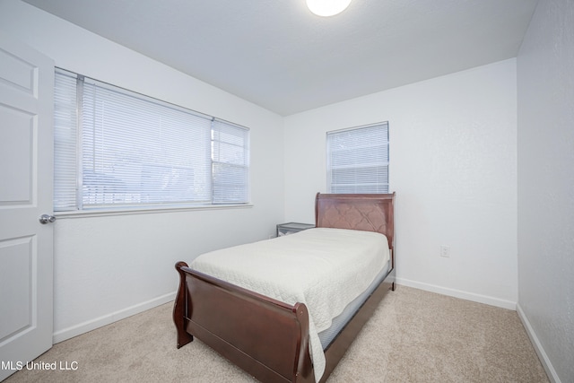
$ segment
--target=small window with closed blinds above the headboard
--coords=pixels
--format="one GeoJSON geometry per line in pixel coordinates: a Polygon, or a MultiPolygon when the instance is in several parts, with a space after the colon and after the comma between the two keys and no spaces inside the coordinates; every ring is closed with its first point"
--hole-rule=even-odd
{"type": "Polygon", "coordinates": [[[326,134],[329,193],[388,193],[388,123],[326,134]]]}

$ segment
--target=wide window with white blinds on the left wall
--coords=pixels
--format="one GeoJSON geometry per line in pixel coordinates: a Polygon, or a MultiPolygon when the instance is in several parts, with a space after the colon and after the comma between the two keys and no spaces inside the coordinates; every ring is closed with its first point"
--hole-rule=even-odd
{"type": "Polygon", "coordinates": [[[57,70],[56,212],[248,203],[249,132],[57,70]]]}

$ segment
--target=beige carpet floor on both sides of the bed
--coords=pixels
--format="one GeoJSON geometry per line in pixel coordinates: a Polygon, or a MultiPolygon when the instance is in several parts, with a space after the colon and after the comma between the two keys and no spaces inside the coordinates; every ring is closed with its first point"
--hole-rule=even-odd
{"type": "MultiPolygon", "coordinates": [[[[56,344],[38,361],[57,370],[24,367],[5,382],[254,381],[197,340],[177,350],[171,304],[56,344]]],[[[547,381],[515,311],[404,286],[387,294],[328,380],[547,381]]]]}

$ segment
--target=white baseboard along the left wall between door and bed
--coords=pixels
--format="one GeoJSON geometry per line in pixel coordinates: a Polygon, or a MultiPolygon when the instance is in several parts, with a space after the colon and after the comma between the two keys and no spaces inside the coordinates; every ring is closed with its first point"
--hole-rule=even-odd
{"type": "Polygon", "coordinates": [[[84,333],[87,333],[88,331],[95,330],[96,328],[100,328],[102,326],[107,326],[111,323],[117,322],[120,319],[128,318],[135,314],[139,314],[140,312],[143,312],[147,309],[153,309],[154,307],[175,300],[175,298],[176,298],[176,292],[170,292],[169,294],[162,295],[161,297],[154,298],[152,300],[147,300],[142,303],[138,303],[126,309],[120,309],[116,312],[112,312],[100,318],[91,319],[79,325],[65,328],[63,330],[54,333],[54,335],[52,336],[52,342],[54,344],[63,342],[67,339],[73,338],[74,336],[82,335],[84,333]]]}

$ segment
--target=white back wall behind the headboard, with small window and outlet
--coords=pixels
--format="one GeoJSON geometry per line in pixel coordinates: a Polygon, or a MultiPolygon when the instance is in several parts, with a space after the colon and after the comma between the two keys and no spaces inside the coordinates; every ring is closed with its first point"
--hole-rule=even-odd
{"type": "Polygon", "coordinates": [[[516,102],[509,59],[285,118],[285,220],[314,220],[327,131],[388,121],[398,282],[515,309],[516,102]]]}

